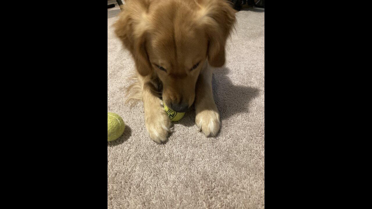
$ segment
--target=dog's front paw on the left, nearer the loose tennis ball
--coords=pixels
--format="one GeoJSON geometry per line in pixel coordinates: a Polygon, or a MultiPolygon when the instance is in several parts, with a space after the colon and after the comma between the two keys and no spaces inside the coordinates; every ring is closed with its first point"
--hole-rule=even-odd
{"type": "Polygon", "coordinates": [[[167,141],[173,131],[172,123],[162,107],[145,112],[145,126],[150,138],[158,144],[167,141]]]}

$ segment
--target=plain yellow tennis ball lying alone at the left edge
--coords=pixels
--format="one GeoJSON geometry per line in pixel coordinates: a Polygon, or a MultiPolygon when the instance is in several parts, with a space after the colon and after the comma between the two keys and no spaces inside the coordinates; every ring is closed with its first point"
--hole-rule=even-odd
{"type": "Polygon", "coordinates": [[[107,141],[113,141],[121,136],[125,129],[123,119],[116,113],[107,113],[107,141]]]}

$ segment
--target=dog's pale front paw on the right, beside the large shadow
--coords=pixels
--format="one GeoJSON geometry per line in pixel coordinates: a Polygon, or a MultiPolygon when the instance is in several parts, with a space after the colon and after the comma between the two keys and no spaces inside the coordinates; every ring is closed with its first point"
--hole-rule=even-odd
{"type": "Polygon", "coordinates": [[[205,109],[197,112],[195,124],[206,137],[216,136],[221,127],[218,111],[205,109]]]}

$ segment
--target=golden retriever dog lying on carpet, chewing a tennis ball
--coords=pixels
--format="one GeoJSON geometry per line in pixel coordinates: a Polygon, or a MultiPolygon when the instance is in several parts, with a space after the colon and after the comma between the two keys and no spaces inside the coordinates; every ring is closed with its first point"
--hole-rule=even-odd
{"type": "Polygon", "coordinates": [[[225,63],[235,10],[224,0],[125,0],[122,10],[115,33],[136,67],[129,100],[143,102],[150,138],[163,143],[173,131],[163,104],[186,112],[194,102],[199,131],[216,136],[212,67],[225,63]]]}

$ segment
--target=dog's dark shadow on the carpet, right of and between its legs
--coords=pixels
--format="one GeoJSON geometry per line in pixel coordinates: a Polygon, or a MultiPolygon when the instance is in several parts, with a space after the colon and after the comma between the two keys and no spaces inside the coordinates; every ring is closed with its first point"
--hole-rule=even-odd
{"type": "MultiPolygon", "coordinates": [[[[212,77],[213,96],[221,120],[231,118],[243,112],[249,112],[249,103],[259,95],[260,89],[250,86],[235,86],[227,74],[226,67],[218,68],[212,77]]],[[[249,85],[249,84],[248,84],[249,85]]],[[[176,122],[185,126],[195,125],[195,105],[192,105],[182,120],[176,122]]]]}

